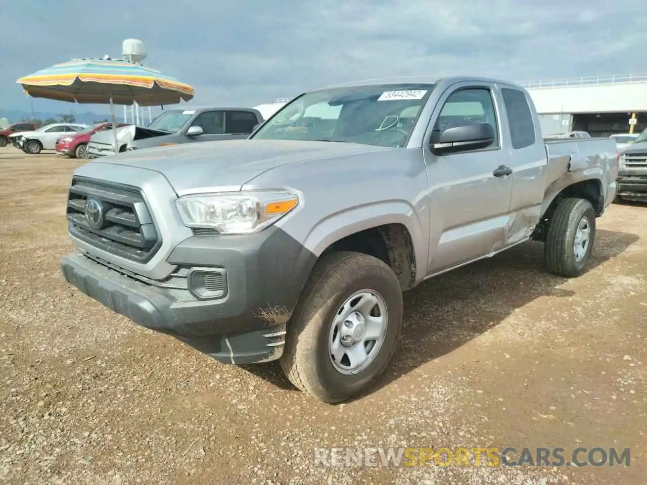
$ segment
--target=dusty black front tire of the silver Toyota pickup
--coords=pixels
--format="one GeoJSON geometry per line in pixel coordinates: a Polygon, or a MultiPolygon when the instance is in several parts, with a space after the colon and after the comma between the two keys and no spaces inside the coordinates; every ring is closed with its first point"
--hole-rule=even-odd
{"type": "MultiPolygon", "coordinates": [[[[368,314],[366,309],[369,307],[370,303],[364,307],[364,314],[368,314]]],[[[294,386],[323,402],[336,403],[356,398],[364,394],[386,369],[395,352],[401,327],[402,290],[393,270],[379,259],[363,253],[331,253],[317,262],[303,288],[300,301],[288,323],[285,350],[280,359],[281,367],[294,386]],[[369,361],[366,367],[355,369],[352,374],[344,374],[336,365],[350,363],[344,360],[348,356],[343,354],[333,363],[331,339],[341,338],[340,332],[345,332],[344,338],[348,337],[349,343],[353,343],[352,340],[358,336],[349,336],[348,332],[352,333],[352,328],[349,330],[346,325],[354,323],[356,326],[353,328],[357,330],[364,317],[351,313],[346,318],[340,318],[337,323],[334,320],[338,312],[344,309],[342,305],[362,290],[367,298],[364,301],[370,301],[373,294],[377,301],[376,307],[386,309],[386,329],[382,330],[381,339],[373,339],[372,345],[369,343],[369,361]],[[380,340],[381,345],[378,344],[380,340]]],[[[352,347],[344,347],[340,341],[337,343],[338,348],[344,352],[362,348],[361,341],[352,347]]],[[[349,372],[348,369],[345,372],[349,372]]]]}

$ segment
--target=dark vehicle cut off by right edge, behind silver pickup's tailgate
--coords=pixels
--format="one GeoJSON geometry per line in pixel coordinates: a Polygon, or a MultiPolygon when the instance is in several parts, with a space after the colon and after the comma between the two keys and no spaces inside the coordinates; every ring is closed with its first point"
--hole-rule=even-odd
{"type": "Polygon", "coordinates": [[[647,129],[620,153],[616,200],[647,202],[647,129]]]}

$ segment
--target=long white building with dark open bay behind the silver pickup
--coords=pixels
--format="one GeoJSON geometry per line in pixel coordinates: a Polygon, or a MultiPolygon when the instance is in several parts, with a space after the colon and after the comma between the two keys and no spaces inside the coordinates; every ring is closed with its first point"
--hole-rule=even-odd
{"type": "Polygon", "coordinates": [[[647,74],[520,84],[532,97],[544,135],[587,131],[608,136],[647,127],[647,74]]]}

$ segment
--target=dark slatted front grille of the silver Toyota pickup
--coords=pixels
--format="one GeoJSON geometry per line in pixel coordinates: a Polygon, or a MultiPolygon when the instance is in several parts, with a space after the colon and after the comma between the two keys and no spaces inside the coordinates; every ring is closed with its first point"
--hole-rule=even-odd
{"type": "Polygon", "coordinates": [[[145,263],[161,244],[140,190],[74,178],[67,197],[69,232],[111,254],[145,263]],[[85,215],[87,199],[99,200],[102,223],[93,226],[85,215]]]}

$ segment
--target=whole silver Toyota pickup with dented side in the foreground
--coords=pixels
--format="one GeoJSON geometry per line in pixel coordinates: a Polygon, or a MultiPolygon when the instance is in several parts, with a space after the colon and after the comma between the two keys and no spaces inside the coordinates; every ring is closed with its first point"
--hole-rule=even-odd
{"type": "Polygon", "coordinates": [[[387,367],[402,291],[529,239],[549,272],[582,274],[618,163],[608,138],[545,143],[504,81],[329,87],[248,140],[78,168],[62,272],[148,329],[225,363],[280,360],[340,402],[387,367]]]}

